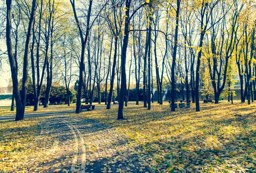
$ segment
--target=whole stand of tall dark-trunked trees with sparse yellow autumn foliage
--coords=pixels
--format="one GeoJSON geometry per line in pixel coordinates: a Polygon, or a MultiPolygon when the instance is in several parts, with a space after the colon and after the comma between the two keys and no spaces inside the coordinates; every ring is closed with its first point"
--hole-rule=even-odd
{"type": "Polygon", "coordinates": [[[212,91],[218,103],[224,90],[229,95],[232,85],[240,82],[241,102],[247,99],[250,104],[256,96],[253,1],[6,0],[1,11],[6,19],[2,33],[12,71],[16,120],[23,119],[28,74],[35,111],[43,83],[49,100],[54,80],[63,82],[69,97],[70,83],[78,79],[76,113],[81,112],[82,92],[91,104],[94,90],[98,97],[102,95],[102,83],[110,109],[116,85],[118,119],[123,119],[131,81],[136,83],[137,105],[143,83],[148,109],[153,83],[160,104],[163,88],[171,86],[172,111],[177,90],[186,91],[186,100],[195,102],[196,111],[200,111],[200,90],[212,91]]]}

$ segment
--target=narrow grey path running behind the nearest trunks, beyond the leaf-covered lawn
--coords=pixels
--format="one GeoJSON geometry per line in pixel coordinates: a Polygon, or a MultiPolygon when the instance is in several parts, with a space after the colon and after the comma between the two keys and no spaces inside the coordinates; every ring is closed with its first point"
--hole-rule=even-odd
{"type": "MultiPolygon", "coordinates": [[[[134,105],[135,103],[128,103],[128,105],[134,105]]],[[[118,105],[111,105],[111,107],[116,107],[118,105]]],[[[95,109],[105,109],[106,105],[99,105],[95,106],[95,109]]],[[[86,111],[86,110],[83,110],[86,111]]],[[[63,110],[63,111],[47,111],[47,112],[35,112],[35,113],[25,113],[25,118],[33,118],[33,117],[42,117],[42,116],[50,116],[50,115],[60,115],[60,114],[67,114],[67,113],[75,113],[76,109],[70,109],[70,110],[63,110]]],[[[10,120],[15,119],[15,115],[6,115],[6,116],[0,116],[0,121],[3,120],[10,120]]]]}

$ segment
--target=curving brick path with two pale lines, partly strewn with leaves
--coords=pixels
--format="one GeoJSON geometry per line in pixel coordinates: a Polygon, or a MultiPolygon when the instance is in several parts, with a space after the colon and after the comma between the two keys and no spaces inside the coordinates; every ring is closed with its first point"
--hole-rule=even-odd
{"type": "Polygon", "coordinates": [[[150,172],[136,149],[117,130],[93,119],[75,116],[49,118],[40,135],[55,133],[50,151],[55,159],[38,165],[42,173],[140,173],[150,172]]]}

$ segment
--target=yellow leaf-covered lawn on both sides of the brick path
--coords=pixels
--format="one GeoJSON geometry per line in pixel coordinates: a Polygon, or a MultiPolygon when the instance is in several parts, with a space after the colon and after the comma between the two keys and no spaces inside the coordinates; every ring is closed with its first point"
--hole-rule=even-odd
{"type": "MultiPolygon", "coordinates": [[[[117,109],[61,116],[81,125],[93,119],[113,130],[113,135],[122,136],[127,142],[119,146],[119,155],[124,156],[128,151],[137,155],[143,165],[138,168],[141,172],[145,168],[152,173],[256,172],[256,104],[202,103],[201,112],[195,112],[194,104],[190,109],[177,108],[175,112],[170,111],[166,102],[164,105],[154,103],[151,110],[143,108],[142,104],[129,105],[124,108],[124,120],[116,120],[117,109]]],[[[0,122],[0,170],[17,167],[26,170],[42,160],[52,161],[56,136],[38,136],[42,124],[47,124],[50,117],[0,122]],[[23,161],[18,162],[18,158],[23,161]]],[[[103,129],[99,129],[99,134],[101,131],[103,133],[103,129]]],[[[81,133],[85,135],[87,131],[81,133]]],[[[84,138],[90,155],[96,155],[96,148],[100,146],[93,141],[99,136],[86,134],[84,138]]],[[[108,145],[116,147],[114,143],[108,145]]],[[[125,158],[112,157],[125,161],[125,158]]]]}

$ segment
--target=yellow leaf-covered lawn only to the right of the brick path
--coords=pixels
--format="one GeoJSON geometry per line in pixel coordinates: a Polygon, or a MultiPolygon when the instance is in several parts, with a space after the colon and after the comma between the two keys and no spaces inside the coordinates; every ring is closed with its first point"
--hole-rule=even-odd
{"type": "Polygon", "coordinates": [[[141,162],[155,172],[256,172],[256,104],[202,103],[201,112],[177,109],[168,103],[151,110],[132,105],[124,109],[125,120],[116,120],[116,110],[84,113],[115,128],[141,162]]]}

